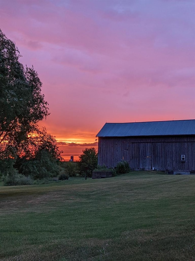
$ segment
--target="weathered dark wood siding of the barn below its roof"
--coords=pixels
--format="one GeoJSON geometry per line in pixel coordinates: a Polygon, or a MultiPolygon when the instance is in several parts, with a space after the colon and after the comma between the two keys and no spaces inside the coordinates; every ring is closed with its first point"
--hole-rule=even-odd
{"type": "Polygon", "coordinates": [[[99,137],[99,165],[113,167],[123,159],[132,170],[195,170],[195,136],[99,137]]]}

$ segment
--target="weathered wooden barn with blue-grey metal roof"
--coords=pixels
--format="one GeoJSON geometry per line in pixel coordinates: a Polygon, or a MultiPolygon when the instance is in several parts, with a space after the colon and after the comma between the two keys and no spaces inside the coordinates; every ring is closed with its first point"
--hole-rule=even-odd
{"type": "Polygon", "coordinates": [[[195,172],[195,120],[106,123],[96,137],[101,166],[195,172]]]}

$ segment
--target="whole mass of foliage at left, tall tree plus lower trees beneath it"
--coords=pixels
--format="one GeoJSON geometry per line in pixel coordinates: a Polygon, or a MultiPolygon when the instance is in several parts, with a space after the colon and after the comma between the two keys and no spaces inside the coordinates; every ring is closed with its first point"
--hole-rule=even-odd
{"type": "Polygon", "coordinates": [[[34,179],[57,176],[62,151],[55,136],[37,125],[49,115],[42,83],[33,67],[19,62],[20,56],[0,30],[0,171],[7,179],[17,170],[34,179]]]}

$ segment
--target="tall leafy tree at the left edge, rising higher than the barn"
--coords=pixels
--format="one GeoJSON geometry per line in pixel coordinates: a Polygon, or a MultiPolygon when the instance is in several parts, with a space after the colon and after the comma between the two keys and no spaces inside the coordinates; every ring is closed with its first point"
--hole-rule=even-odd
{"type": "Polygon", "coordinates": [[[42,83],[34,68],[18,61],[18,48],[0,30],[0,151],[16,155],[38,121],[46,118],[48,103],[41,94],[42,83]]]}

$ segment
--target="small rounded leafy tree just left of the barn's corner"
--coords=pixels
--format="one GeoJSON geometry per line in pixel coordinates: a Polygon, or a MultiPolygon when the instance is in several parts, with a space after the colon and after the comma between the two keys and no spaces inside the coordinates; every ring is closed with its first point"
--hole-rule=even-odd
{"type": "Polygon", "coordinates": [[[80,159],[80,174],[92,177],[92,171],[98,166],[98,152],[94,147],[86,148],[83,154],[79,156],[80,159]]]}

